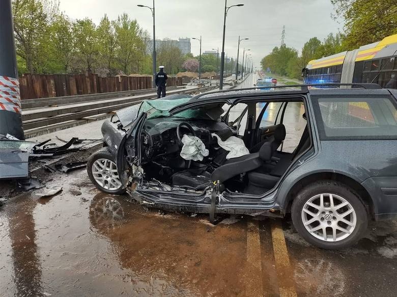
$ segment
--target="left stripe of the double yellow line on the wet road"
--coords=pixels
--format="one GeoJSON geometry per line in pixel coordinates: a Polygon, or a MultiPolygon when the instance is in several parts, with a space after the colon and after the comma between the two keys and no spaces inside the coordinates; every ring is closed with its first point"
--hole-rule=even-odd
{"type": "Polygon", "coordinates": [[[246,295],[263,296],[259,222],[253,220],[247,221],[247,271],[246,295]]]}

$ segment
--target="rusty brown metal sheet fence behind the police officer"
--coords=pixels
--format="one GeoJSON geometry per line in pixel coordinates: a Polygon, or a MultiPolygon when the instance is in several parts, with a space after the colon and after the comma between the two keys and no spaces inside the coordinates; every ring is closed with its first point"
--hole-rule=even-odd
{"type": "MultiPolygon", "coordinates": [[[[182,86],[182,78],[168,77],[167,86],[182,86]]],[[[100,77],[98,74],[23,74],[21,99],[86,95],[152,88],[150,76],[100,77]]]]}

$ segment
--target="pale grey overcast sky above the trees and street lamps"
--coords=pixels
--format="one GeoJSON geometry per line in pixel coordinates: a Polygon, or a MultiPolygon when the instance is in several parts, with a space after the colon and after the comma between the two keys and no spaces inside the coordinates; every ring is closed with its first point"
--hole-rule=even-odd
{"type": "MultiPolygon", "coordinates": [[[[153,34],[153,18],[148,8],[151,0],[60,0],[60,8],[69,17],[89,17],[99,23],[106,13],[115,19],[123,12],[136,19],[139,25],[153,34]]],[[[282,26],[286,26],[285,42],[300,50],[311,37],[323,40],[328,33],[342,31],[343,24],[331,18],[330,0],[228,0],[233,7],[226,18],[225,53],[237,56],[238,36],[249,38],[240,48],[251,49],[258,66],[274,46],[281,42],[282,26]]],[[[224,0],[155,0],[156,39],[184,38],[202,35],[202,49],[222,47],[224,0]]],[[[191,40],[191,50],[198,55],[199,43],[191,40]]],[[[240,59],[242,57],[240,51],[240,59]]],[[[241,61],[241,60],[240,60],[241,61]]]]}

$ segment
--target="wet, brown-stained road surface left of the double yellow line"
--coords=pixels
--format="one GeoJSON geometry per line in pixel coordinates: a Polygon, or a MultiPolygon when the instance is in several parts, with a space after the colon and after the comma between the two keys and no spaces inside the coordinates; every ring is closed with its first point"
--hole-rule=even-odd
{"type": "Polygon", "coordinates": [[[245,221],[162,215],[93,190],[84,171],[73,176],[48,183],[64,186],[52,198],[38,199],[38,190],[3,206],[0,292],[245,295],[245,221]]]}

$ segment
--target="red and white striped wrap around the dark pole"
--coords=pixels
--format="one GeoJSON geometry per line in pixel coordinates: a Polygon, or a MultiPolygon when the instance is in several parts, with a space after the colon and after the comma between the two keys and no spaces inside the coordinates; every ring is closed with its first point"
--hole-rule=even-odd
{"type": "Polygon", "coordinates": [[[0,110],[21,113],[21,95],[17,78],[0,75],[0,110]]]}

